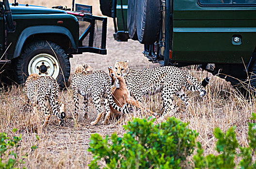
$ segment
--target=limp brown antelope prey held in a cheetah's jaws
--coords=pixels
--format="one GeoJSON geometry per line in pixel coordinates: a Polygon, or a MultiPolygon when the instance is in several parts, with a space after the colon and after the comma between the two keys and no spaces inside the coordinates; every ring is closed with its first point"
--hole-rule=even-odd
{"type": "MultiPolygon", "coordinates": [[[[126,104],[131,104],[139,109],[141,109],[144,112],[148,112],[151,115],[155,114],[154,112],[148,110],[146,107],[144,107],[140,102],[133,99],[130,96],[130,92],[126,86],[125,79],[122,76],[118,76],[116,71],[112,69],[110,66],[109,68],[109,75],[112,78],[112,85],[115,84],[115,89],[112,91],[114,102],[118,106],[126,106],[126,104]]],[[[119,114],[116,110],[113,110],[112,106],[110,105],[111,113],[112,114],[119,114]]],[[[154,115],[153,115],[154,117],[154,115]]]]}

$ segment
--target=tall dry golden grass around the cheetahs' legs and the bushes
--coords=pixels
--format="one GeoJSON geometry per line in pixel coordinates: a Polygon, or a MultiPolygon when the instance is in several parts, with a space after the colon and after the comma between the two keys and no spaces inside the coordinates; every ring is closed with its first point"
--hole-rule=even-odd
{"type": "MultiPolygon", "coordinates": [[[[201,80],[206,72],[186,69],[192,75],[201,80]]],[[[247,146],[247,130],[251,113],[256,112],[256,100],[246,100],[223,79],[211,76],[211,81],[206,87],[207,95],[203,99],[198,92],[187,92],[192,101],[192,106],[185,111],[185,105],[176,98],[180,110],[172,114],[183,122],[189,122],[189,127],[199,132],[198,141],[205,149],[205,155],[217,154],[214,150],[216,139],[213,129],[220,127],[226,131],[229,127],[236,126],[237,139],[241,145],[247,146]]],[[[42,128],[44,118],[42,114],[31,114],[26,104],[22,86],[1,89],[0,91],[0,132],[6,132],[9,136],[15,135],[12,129],[18,129],[17,135],[22,134],[21,147],[23,152],[30,152],[30,147],[38,145],[38,149],[25,159],[27,168],[74,168],[84,169],[92,159],[92,155],[86,150],[89,147],[89,138],[92,133],[102,136],[116,132],[119,136],[124,133],[122,124],[126,124],[132,117],[147,117],[145,113],[135,110],[133,114],[127,114],[119,122],[113,120],[110,125],[91,126],[90,122],[96,118],[96,111],[90,101],[89,121],[83,120],[80,113],[79,125],[74,126],[72,112],[74,104],[70,88],[61,92],[61,101],[66,104],[67,119],[64,127],[58,127],[57,118],[51,117],[48,127],[42,128]],[[35,127],[36,126],[36,127],[35,127]],[[41,128],[40,128],[41,127],[41,128]],[[36,129],[34,129],[36,128],[36,129]],[[40,141],[36,141],[36,134],[40,141]]],[[[144,104],[155,112],[161,109],[159,95],[149,97],[144,104]]],[[[80,101],[80,112],[82,101],[80,101]]],[[[102,119],[101,119],[102,120],[102,119]]],[[[98,123],[100,124],[100,122],[98,123]]],[[[192,158],[189,158],[192,161],[192,158]]],[[[23,165],[19,166],[23,167],[23,165]]]]}

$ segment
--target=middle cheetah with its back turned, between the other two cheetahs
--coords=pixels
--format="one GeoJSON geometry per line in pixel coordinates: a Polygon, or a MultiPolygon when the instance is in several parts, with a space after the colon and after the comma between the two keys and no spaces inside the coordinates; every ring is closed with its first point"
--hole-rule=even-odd
{"type": "Polygon", "coordinates": [[[80,94],[84,101],[84,118],[88,119],[87,115],[87,106],[88,106],[88,98],[92,97],[93,103],[95,105],[97,111],[97,118],[95,121],[91,122],[91,125],[96,125],[102,115],[102,110],[100,107],[100,98],[104,100],[105,106],[105,119],[102,124],[109,123],[110,117],[110,108],[111,105],[115,110],[122,113],[129,113],[126,108],[122,109],[117,106],[112,98],[111,94],[111,77],[103,70],[90,71],[90,66],[87,64],[80,64],[76,67],[75,72],[72,76],[71,80],[71,89],[74,94],[74,102],[75,102],[75,111],[74,111],[74,120],[75,124],[78,122],[78,94],[80,94]]]}

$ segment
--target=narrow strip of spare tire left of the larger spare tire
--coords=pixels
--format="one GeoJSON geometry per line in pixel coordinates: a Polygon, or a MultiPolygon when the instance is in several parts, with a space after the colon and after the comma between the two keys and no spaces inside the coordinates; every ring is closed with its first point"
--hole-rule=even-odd
{"type": "Polygon", "coordinates": [[[138,40],[136,33],[136,11],[137,0],[128,0],[127,28],[129,32],[129,37],[132,40],[138,40]]]}

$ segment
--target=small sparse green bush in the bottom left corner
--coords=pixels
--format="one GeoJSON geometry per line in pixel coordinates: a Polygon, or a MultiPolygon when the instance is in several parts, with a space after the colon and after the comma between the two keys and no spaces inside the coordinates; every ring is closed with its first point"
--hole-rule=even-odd
{"type": "MultiPolygon", "coordinates": [[[[13,132],[16,132],[16,128],[13,132]]],[[[39,140],[38,137],[36,137],[39,140]]],[[[19,155],[19,142],[21,141],[21,134],[19,137],[13,136],[13,138],[7,137],[5,133],[0,133],[0,169],[15,169],[18,164],[24,163],[24,159],[27,158],[28,153],[25,155],[19,155]]],[[[31,147],[32,151],[36,149],[37,146],[33,145],[31,147]]],[[[31,152],[32,152],[31,151],[31,152]]]]}

